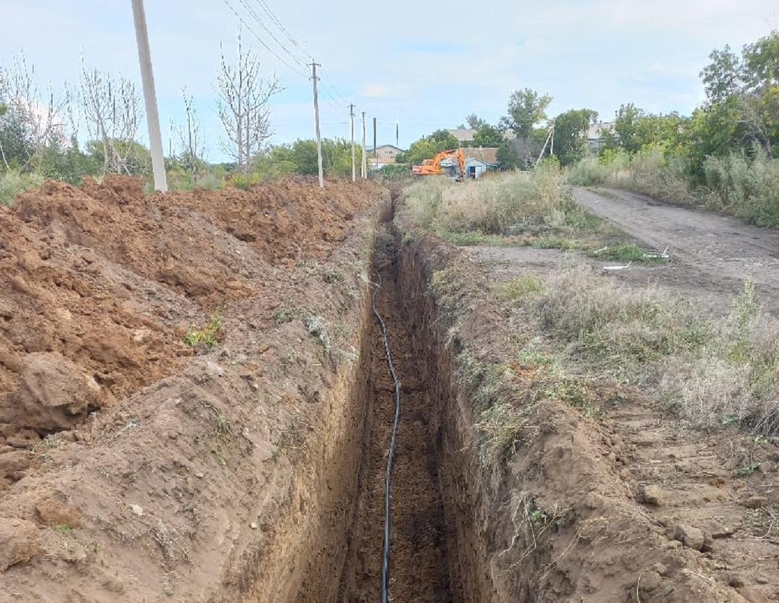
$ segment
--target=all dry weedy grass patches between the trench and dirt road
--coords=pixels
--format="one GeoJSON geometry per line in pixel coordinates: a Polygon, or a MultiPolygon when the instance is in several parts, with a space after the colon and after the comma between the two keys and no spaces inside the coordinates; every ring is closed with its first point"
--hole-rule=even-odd
{"type": "MultiPolygon", "coordinates": [[[[554,165],[464,184],[428,179],[407,188],[406,203],[418,226],[459,245],[533,245],[609,261],[667,261],[620,240],[587,214],[554,165]]],[[[433,275],[442,310],[461,310],[458,286],[449,269],[433,275]]],[[[608,377],[643,387],[702,429],[735,424],[760,436],[779,433],[779,322],[763,311],[750,279],[724,318],[666,289],[621,286],[588,268],[526,272],[491,289],[517,325],[515,360],[520,370],[534,371],[533,401],[557,398],[599,419],[592,383],[608,377]]],[[[467,355],[459,362],[477,399],[489,400],[478,431],[482,458],[494,460],[516,444],[527,409],[495,395],[501,370],[478,366],[467,355]]]]}

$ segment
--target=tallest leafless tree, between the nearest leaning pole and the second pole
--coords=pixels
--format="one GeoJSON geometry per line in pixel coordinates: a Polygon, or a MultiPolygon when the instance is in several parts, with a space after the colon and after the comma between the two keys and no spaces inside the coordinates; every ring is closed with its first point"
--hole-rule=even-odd
{"type": "Polygon", "coordinates": [[[238,34],[238,62],[227,63],[224,49],[220,47],[221,66],[217,76],[219,117],[226,139],[222,141],[224,152],[247,170],[249,161],[263,149],[273,132],[270,129],[268,101],[282,87],[275,75],[263,79],[259,60],[252,51],[244,51],[241,34],[238,34]]]}

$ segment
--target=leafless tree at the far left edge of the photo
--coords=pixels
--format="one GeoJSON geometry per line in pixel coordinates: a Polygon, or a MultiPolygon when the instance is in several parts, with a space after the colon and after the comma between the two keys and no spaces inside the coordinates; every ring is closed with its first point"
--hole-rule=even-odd
{"type": "MultiPolygon", "coordinates": [[[[5,114],[18,124],[17,135],[22,140],[16,146],[23,154],[22,169],[30,167],[45,148],[65,143],[64,113],[70,110],[72,92],[67,85],[62,96],[55,96],[51,83],[41,93],[35,80],[35,65],[28,65],[24,54],[19,54],[9,68],[0,68],[0,98],[5,100],[5,114]]],[[[8,167],[5,150],[0,149],[3,163],[8,167]]]]}

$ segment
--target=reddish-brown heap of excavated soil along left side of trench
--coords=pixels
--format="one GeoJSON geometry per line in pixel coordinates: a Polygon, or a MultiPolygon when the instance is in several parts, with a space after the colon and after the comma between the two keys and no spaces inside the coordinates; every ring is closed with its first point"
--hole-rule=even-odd
{"type": "Polygon", "coordinates": [[[0,489],[27,450],[172,373],[183,336],[267,276],[328,257],[371,184],[297,178],[252,191],[143,195],[141,182],[57,181],[0,207],[0,489]]]}

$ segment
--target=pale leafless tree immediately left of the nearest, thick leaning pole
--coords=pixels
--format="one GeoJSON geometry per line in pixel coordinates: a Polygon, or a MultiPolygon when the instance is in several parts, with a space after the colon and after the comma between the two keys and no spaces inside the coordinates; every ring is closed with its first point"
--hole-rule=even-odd
{"type": "Polygon", "coordinates": [[[86,130],[103,147],[103,174],[132,174],[141,159],[138,129],[143,116],[135,83],[83,65],[81,98],[86,130]]]}

